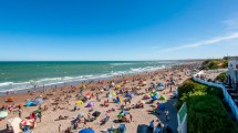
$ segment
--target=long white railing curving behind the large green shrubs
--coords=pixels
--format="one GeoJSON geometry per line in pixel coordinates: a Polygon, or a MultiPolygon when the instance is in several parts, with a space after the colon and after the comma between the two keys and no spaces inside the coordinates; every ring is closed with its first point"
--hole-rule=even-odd
{"type": "Polygon", "coordinates": [[[236,117],[236,120],[238,122],[238,108],[237,108],[236,103],[234,102],[234,100],[231,99],[231,96],[229,95],[229,93],[227,92],[227,89],[223,84],[217,84],[217,83],[208,82],[208,81],[201,80],[201,79],[196,78],[196,76],[193,76],[193,79],[195,81],[199,82],[199,83],[221,89],[223,92],[224,92],[225,100],[229,104],[229,106],[230,106],[230,109],[231,109],[231,111],[232,111],[232,113],[234,113],[234,115],[235,115],[235,117],[236,117]]]}

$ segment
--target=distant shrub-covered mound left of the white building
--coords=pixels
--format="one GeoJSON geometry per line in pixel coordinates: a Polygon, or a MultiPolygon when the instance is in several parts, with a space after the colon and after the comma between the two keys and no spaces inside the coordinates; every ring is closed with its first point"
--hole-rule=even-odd
{"type": "Polygon", "coordinates": [[[226,69],[228,66],[227,58],[224,59],[209,59],[201,63],[201,70],[215,70],[215,69],[226,69]]]}

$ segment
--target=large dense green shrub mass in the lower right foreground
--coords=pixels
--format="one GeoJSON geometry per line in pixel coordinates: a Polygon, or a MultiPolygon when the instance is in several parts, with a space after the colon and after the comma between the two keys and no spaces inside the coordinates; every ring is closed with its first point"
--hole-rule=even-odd
{"type": "Polygon", "coordinates": [[[178,96],[177,109],[187,103],[188,133],[237,132],[221,102],[224,95],[220,89],[188,80],[178,88],[178,96]]]}

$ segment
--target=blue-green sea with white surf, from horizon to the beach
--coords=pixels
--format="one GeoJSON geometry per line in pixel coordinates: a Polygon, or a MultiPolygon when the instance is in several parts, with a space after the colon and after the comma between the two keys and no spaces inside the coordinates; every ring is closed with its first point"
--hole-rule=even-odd
{"type": "Polygon", "coordinates": [[[162,70],[182,61],[0,62],[0,92],[162,70]]]}

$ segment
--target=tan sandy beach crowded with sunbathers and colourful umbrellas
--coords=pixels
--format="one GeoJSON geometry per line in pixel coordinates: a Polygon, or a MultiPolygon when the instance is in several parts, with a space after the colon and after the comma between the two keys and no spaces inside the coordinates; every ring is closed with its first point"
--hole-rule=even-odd
{"type": "MultiPolygon", "coordinates": [[[[197,65],[197,64],[196,64],[197,65]]],[[[42,111],[42,119],[41,122],[39,119],[37,119],[37,126],[33,129],[34,133],[64,133],[68,127],[71,127],[71,121],[74,120],[80,113],[83,113],[85,119],[87,119],[89,111],[93,109],[92,112],[90,112],[90,117],[92,117],[92,113],[94,111],[101,112],[101,115],[94,120],[93,122],[86,122],[86,125],[84,126],[83,119],[79,122],[76,130],[71,130],[72,133],[77,133],[83,126],[84,127],[92,127],[96,133],[100,133],[103,130],[107,130],[111,126],[118,127],[120,122],[117,121],[117,115],[122,111],[122,105],[125,105],[124,100],[125,98],[125,91],[127,90],[130,93],[132,93],[132,89],[137,86],[137,92],[134,94],[134,96],[131,100],[131,103],[126,103],[125,108],[132,108],[133,104],[138,103],[141,100],[143,100],[144,95],[152,93],[155,91],[155,89],[149,90],[151,83],[162,83],[162,84],[168,84],[170,83],[170,79],[175,81],[174,85],[169,85],[165,88],[163,91],[158,91],[159,95],[164,94],[166,95],[166,100],[157,100],[154,103],[151,103],[151,98],[147,100],[143,100],[144,108],[143,109],[131,109],[128,112],[132,115],[132,121],[123,122],[126,125],[126,133],[136,133],[137,125],[138,124],[146,124],[148,125],[152,120],[155,121],[154,125],[156,126],[158,121],[163,125],[168,124],[173,132],[177,132],[177,114],[176,110],[174,108],[176,103],[176,99],[172,99],[172,95],[176,91],[175,89],[182,84],[185,80],[189,79],[192,74],[189,73],[192,69],[196,68],[195,64],[186,64],[180,65],[174,69],[169,70],[163,70],[163,71],[154,71],[154,72],[146,72],[135,75],[128,75],[128,76],[116,76],[111,80],[105,81],[92,81],[90,83],[79,84],[79,85],[66,85],[65,88],[58,88],[58,89],[49,89],[43,92],[35,92],[32,95],[30,93],[24,94],[15,94],[15,95],[8,95],[8,96],[1,96],[0,98],[0,105],[22,105],[21,108],[21,119],[24,120],[24,117],[29,116],[31,112],[39,109],[39,106],[23,106],[27,101],[34,100],[38,96],[41,96],[43,100],[43,104],[41,105],[41,110],[43,110],[45,106],[48,108],[45,111],[42,111]],[[143,86],[139,84],[145,83],[143,86]],[[107,89],[107,86],[114,84],[114,86],[111,86],[108,91],[102,91],[103,89],[107,89]],[[172,89],[172,90],[170,90],[172,89]],[[91,95],[91,99],[87,100],[87,102],[76,105],[77,109],[75,111],[72,111],[75,106],[75,103],[80,100],[79,91],[83,90],[82,95],[86,95],[87,93],[93,94],[91,95]],[[123,91],[124,93],[120,93],[123,91]],[[96,100],[96,93],[99,93],[100,101],[96,100]],[[112,95],[112,98],[107,98],[106,93],[118,93],[117,95],[112,95]],[[12,96],[13,102],[4,102],[10,96],[12,96]],[[113,99],[116,99],[118,96],[122,102],[115,103],[113,102],[113,99]],[[58,98],[58,99],[56,99],[58,98]],[[108,100],[108,106],[102,106],[104,104],[104,101],[108,100]],[[93,108],[85,108],[87,103],[92,102],[94,104],[93,108]],[[166,121],[165,112],[162,111],[159,115],[149,114],[148,110],[152,110],[152,105],[156,106],[157,102],[164,103],[165,108],[169,112],[169,120],[166,121]],[[110,111],[114,109],[115,111],[110,111]],[[65,120],[59,120],[59,116],[62,115],[65,116],[65,120]],[[101,120],[105,119],[106,116],[110,116],[108,122],[101,125],[101,120]],[[61,126],[60,126],[61,125],[61,126]],[[60,126],[60,129],[59,129],[60,126]]],[[[18,111],[18,108],[13,109],[14,111],[18,111]]],[[[0,122],[0,133],[6,133],[6,126],[7,124],[10,125],[8,122],[9,119],[18,117],[19,113],[9,112],[9,115],[0,122]]],[[[130,120],[130,116],[126,115],[126,117],[130,120]]]]}

